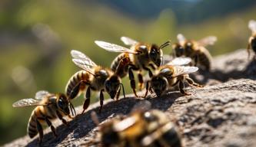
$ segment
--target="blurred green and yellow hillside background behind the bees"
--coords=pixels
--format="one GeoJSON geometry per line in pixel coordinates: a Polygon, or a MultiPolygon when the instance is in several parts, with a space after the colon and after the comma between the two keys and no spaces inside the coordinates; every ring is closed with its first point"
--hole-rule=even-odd
{"type": "MultiPolygon", "coordinates": [[[[93,41],[122,44],[119,38],[128,36],[161,44],[182,33],[194,39],[216,35],[210,52],[224,54],[247,46],[248,21],[255,14],[254,0],[1,0],[0,145],[26,134],[33,108],[12,108],[12,103],[38,90],[65,91],[80,70],[71,62],[71,49],[109,66],[117,54],[93,41]]],[[[171,47],[164,52],[171,53],[171,47]]],[[[131,92],[128,78],[124,83],[131,92]]],[[[78,106],[83,99],[74,101],[78,106]]]]}

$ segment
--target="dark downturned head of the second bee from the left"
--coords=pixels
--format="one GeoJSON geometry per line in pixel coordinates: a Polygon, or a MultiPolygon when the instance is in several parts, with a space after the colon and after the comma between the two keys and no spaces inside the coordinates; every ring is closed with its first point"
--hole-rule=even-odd
{"type": "Polygon", "coordinates": [[[107,91],[111,99],[115,98],[115,95],[118,92],[120,85],[121,85],[121,80],[116,75],[109,77],[105,81],[105,90],[107,91]]]}

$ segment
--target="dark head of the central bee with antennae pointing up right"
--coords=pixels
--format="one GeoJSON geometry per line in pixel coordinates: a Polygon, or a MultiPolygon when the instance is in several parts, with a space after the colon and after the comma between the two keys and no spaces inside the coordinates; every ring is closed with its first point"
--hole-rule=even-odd
{"type": "Polygon", "coordinates": [[[160,47],[158,47],[156,44],[151,45],[151,48],[149,50],[149,58],[158,67],[161,65],[162,62],[162,54],[163,52],[161,51],[160,47]]]}

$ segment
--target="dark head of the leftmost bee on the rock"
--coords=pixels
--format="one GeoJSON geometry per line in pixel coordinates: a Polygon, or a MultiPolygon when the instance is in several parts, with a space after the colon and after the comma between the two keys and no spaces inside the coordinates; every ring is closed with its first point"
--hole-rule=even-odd
{"type": "Polygon", "coordinates": [[[65,115],[68,115],[69,112],[69,102],[67,96],[65,94],[60,93],[57,98],[57,106],[58,109],[62,111],[62,113],[65,113],[65,115]]]}

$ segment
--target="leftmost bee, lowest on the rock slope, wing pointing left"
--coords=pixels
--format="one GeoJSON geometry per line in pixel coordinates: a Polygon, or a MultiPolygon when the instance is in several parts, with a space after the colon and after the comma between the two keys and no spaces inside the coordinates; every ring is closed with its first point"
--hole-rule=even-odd
{"type": "Polygon", "coordinates": [[[36,106],[28,120],[27,132],[30,138],[35,137],[39,133],[39,143],[41,143],[43,139],[42,125],[47,124],[50,126],[55,137],[57,137],[57,134],[51,120],[58,118],[61,119],[62,123],[66,126],[68,125],[63,116],[71,118],[69,106],[72,114],[73,111],[75,111],[74,107],[71,105],[65,94],[48,93],[48,91],[45,90],[38,91],[35,94],[35,99],[22,99],[12,104],[13,107],[36,106]]]}

